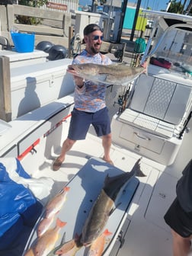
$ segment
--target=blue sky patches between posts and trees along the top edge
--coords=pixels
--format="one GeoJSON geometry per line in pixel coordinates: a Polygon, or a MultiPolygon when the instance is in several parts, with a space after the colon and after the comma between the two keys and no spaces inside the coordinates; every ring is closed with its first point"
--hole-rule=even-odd
{"type": "MultiPolygon", "coordinates": [[[[127,0],[128,5],[130,2],[136,3],[137,1],[136,0],[127,0]]],[[[161,10],[166,10],[166,8],[168,6],[167,5],[168,2],[169,2],[169,0],[142,0],[141,7],[145,8],[145,9],[147,7],[150,7],[150,8],[152,8],[153,11],[161,11],[161,10]]],[[[189,1],[187,1],[187,2],[189,2],[189,1]]],[[[184,0],[181,1],[181,3],[184,3],[184,0]]],[[[79,5],[86,5],[86,4],[91,5],[92,0],[79,0],[79,5]]]]}

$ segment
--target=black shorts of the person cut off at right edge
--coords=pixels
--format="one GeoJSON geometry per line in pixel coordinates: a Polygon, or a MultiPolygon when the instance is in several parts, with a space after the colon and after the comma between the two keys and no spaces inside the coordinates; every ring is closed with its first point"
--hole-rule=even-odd
{"type": "Polygon", "coordinates": [[[192,212],[186,213],[176,197],[164,216],[165,222],[183,238],[192,235],[192,212]]]}

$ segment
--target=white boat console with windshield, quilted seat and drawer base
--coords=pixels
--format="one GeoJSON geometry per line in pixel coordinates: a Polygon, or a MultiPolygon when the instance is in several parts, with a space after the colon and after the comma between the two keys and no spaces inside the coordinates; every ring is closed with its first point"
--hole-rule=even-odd
{"type": "MultiPolygon", "coordinates": [[[[150,15],[150,11],[146,11],[150,15]]],[[[142,61],[148,75],[133,82],[128,104],[112,120],[115,143],[163,165],[171,165],[182,144],[192,107],[191,18],[155,15],[156,26],[142,61]]]]}

